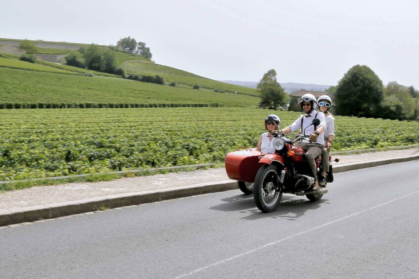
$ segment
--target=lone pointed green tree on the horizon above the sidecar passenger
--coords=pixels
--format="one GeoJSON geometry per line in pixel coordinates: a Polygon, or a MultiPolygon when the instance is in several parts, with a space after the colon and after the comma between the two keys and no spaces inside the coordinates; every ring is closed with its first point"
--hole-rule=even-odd
{"type": "Polygon", "coordinates": [[[277,81],[277,72],[272,69],[263,75],[257,84],[260,92],[261,101],[259,107],[276,110],[284,102],[284,91],[277,81]]]}

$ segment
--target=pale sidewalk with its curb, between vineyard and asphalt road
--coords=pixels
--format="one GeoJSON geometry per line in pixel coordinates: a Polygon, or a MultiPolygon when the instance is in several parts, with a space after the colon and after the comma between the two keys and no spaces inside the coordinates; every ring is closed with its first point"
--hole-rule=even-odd
{"type": "MultiPolygon", "coordinates": [[[[419,159],[419,149],[338,155],[334,173],[419,159]]],[[[0,193],[0,228],[164,199],[237,189],[224,168],[122,178],[96,183],[67,183],[0,193]]]]}

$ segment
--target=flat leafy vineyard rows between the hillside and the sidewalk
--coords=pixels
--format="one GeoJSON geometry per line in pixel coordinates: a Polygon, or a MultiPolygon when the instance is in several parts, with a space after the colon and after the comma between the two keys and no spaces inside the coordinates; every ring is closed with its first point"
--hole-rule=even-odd
{"type": "MultiPolygon", "coordinates": [[[[215,162],[256,146],[251,108],[0,110],[0,181],[215,162]]],[[[282,127],[299,113],[277,112],[282,127]]],[[[332,151],[418,143],[419,122],[336,117],[332,151]]]]}

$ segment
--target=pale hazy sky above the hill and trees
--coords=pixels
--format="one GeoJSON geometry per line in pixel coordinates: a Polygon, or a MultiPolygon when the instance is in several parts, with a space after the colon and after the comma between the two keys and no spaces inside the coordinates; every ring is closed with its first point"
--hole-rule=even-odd
{"type": "Polygon", "coordinates": [[[143,41],[158,64],[214,80],[336,85],[354,65],[419,89],[418,0],[8,0],[0,38],[143,41]]]}

